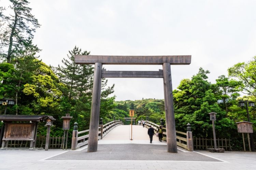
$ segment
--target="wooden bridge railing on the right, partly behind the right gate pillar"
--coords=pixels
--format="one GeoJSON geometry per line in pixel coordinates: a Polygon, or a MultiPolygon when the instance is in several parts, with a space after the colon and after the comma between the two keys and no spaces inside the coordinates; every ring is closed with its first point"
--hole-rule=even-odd
{"type": "MultiPolygon", "coordinates": [[[[153,126],[155,133],[158,133],[159,127],[162,126],[162,129],[163,129],[162,140],[167,140],[166,139],[166,128],[164,128],[163,125],[158,125],[156,123],[146,121],[145,126],[146,126],[146,128],[153,126]]],[[[187,133],[176,131],[177,146],[187,149],[188,151],[194,151],[193,136],[192,136],[190,124],[188,123],[187,126],[188,126],[187,133]]]]}

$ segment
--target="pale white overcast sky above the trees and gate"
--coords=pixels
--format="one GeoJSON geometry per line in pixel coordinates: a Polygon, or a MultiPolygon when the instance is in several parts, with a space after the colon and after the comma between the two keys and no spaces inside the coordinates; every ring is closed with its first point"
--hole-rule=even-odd
{"type": "MultiPolygon", "coordinates": [[[[255,0],[30,0],[42,25],[34,44],[57,66],[78,46],[91,55],[191,55],[171,66],[173,89],[199,68],[209,81],[256,55],[255,0]]],[[[8,4],[0,0],[0,4],[8,4]]],[[[0,5],[2,6],[2,5],[0,5]]],[[[104,65],[107,70],[157,71],[162,66],[104,65]]],[[[162,79],[109,78],[116,100],[163,99],[162,79]]]]}

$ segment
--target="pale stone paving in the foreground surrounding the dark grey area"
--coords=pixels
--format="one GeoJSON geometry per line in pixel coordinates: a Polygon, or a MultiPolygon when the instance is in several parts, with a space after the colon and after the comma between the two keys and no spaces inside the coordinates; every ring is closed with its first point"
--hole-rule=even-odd
{"type": "MultiPolygon", "coordinates": [[[[68,151],[77,152],[77,151],[68,151]]],[[[13,151],[0,150],[0,170],[254,170],[256,167],[255,152],[225,152],[211,153],[198,151],[225,162],[201,161],[159,161],[159,160],[45,160],[51,156],[61,154],[57,150],[13,151]]]]}

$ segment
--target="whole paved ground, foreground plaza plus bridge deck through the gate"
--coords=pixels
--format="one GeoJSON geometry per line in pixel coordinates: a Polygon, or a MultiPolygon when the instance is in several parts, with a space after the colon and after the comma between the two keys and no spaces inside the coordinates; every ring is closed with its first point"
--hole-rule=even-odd
{"type": "Polygon", "coordinates": [[[153,143],[149,143],[149,138],[147,134],[145,135],[147,129],[142,126],[133,127],[140,134],[134,133],[133,140],[129,140],[127,134],[119,137],[116,135],[118,131],[124,132],[127,127],[119,126],[99,140],[97,152],[88,153],[87,146],[76,151],[0,150],[0,170],[248,170],[256,167],[255,152],[211,153],[199,150],[188,152],[178,147],[178,153],[168,153],[166,142],[159,142],[154,137],[153,143]],[[143,135],[148,139],[145,140],[143,135]]]}

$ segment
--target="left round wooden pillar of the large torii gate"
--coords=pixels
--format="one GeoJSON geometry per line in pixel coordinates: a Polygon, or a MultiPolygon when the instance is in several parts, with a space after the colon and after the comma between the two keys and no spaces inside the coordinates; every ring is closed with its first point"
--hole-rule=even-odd
{"type": "Polygon", "coordinates": [[[89,139],[87,152],[96,152],[98,148],[98,129],[100,118],[100,94],[101,94],[102,63],[95,63],[93,96],[91,99],[91,116],[89,126],[89,139]]]}

